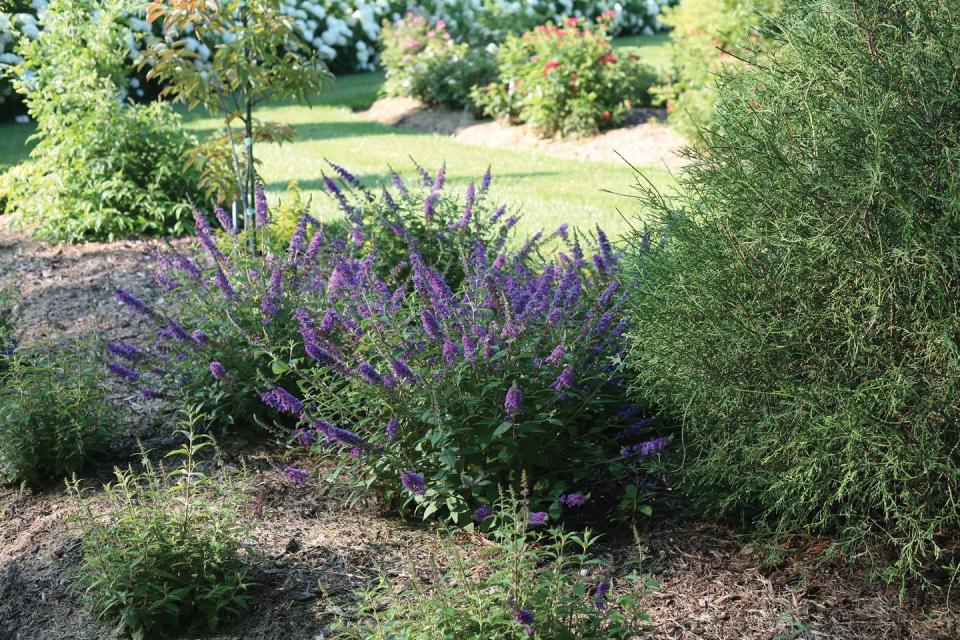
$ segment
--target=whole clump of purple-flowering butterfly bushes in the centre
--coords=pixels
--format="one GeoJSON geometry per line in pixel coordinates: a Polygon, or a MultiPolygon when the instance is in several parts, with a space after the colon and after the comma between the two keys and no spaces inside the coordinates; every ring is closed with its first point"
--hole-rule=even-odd
{"type": "Polygon", "coordinates": [[[542,526],[662,448],[625,406],[620,256],[599,229],[514,239],[489,171],[456,193],[417,170],[375,191],[331,164],[341,216],[304,211],[284,250],[264,199],[259,252],[197,212],[196,246],[158,254],[164,299],[117,292],[155,339],[111,372],[275,424],[424,517],[467,523],[526,474],[542,526]]]}

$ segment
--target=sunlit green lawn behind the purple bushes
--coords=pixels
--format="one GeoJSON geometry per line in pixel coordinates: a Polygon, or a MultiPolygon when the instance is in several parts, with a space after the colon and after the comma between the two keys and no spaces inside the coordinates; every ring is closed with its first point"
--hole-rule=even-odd
{"type": "MultiPolygon", "coordinates": [[[[666,36],[625,38],[618,46],[660,65],[668,64],[667,42],[666,36]]],[[[628,192],[633,183],[633,172],[624,163],[580,162],[533,151],[470,145],[365,120],[354,111],[376,99],[382,82],[381,73],[343,76],[338,78],[337,88],[320,96],[312,107],[280,104],[254,114],[297,129],[293,143],[257,149],[263,161],[263,179],[273,198],[287,197],[287,185],[297,181],[313,196],[318,213],[332,213],[333,203],[321,191],[322,173],[329,172],[324,159],[345,166],[365,182],[377,183],[387,179],[389,166],[412,176],[412,157],[432,171],[446,162],[453,189],[478,180],[491,165],[494,197],[525,214],[521,229],[527,232],[552,230],[568,222],[583,227],[600,224],[617,234],[626,228],[618,210],[628,218],[637,213],[633,200],[615,195],[628,192]]],[[[198,134],[218,125],[214,118],[187,115],[187,126],[198,134]]],[[[32,125],[0,126],[0,171],[26,157],[24,142],[32,131],[32,125]]],[[[671,180],[662,168],[645,167],[644,171],[654,184],[666,186],[671,180]]]]}

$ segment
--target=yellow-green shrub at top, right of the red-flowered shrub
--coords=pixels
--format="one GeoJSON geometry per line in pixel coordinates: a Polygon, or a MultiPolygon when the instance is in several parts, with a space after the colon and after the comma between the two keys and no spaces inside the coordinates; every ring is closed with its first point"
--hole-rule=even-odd
{"type": "Polygon", "coordinates": [[[763,36],[764,16],[780,11],[782,0],[683,0],[667,7],[673,75],[656,88],[670,123],[697,141],[700,129],[716,124],[718,76],[773,44],[763,36]]]}

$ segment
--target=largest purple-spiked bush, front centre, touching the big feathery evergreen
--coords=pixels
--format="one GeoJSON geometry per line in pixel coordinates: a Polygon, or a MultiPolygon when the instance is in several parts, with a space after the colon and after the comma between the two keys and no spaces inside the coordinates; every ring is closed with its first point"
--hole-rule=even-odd
{"type": "Polygon", "coordinates": [[[569,255],[543,263],[529,259],[539,236],[492,261],[477,239],[457,289],[415,248],[411,288],[386,286],[369,257],[342,260],[326,304],[300,310],[310,358],[276,354],[302,377],[301,428],[424,517],[466,522],[523,472],[555,512],[569,488],[602,486],[624,427],[624,325],[618,258],[598,235],[591,260],[569,235],[569,255]],[[333,395],[331,375],[346,382],[333,395]]]}

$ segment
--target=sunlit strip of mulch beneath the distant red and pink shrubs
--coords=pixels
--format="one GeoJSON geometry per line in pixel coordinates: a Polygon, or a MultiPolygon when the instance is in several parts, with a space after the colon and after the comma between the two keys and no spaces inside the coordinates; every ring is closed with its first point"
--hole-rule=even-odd
{"type": "Polygon", "coordinates": [[[686,164],[680,150],[686,141],[664,124],[661,109],[634,109],[623,126],[599,135],[544,140],[528,127],[502,120],[481,120],[467,111],[427,107],[411,98],[385,98],[364,111],[365,117],[388,126],[408,127],[450,136],[475,145],[531,149],[557,158],[622,162],[638,167],[676,170],[686,164]]]}

